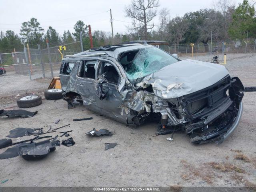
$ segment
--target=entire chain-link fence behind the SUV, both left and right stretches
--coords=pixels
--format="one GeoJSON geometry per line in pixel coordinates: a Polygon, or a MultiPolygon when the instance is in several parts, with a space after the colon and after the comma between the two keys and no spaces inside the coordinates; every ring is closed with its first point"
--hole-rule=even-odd
{"type": "MultiPolygon", "coordinates": [[[[223,61],[255,54],[256,39],[246,41],[230,41],[206,44],[168,45],[164,50],[171,54],[177,53],[182,59],[194,58],[212,61],[214,55],[223,61]]],[[[52,78],[59,75],[61,60],[65,55],[73,55],[82,51],[81,42],[72,42],[47,48],[24,48],[23,52],[0,54],[0,77],[4,78],[28,76],[30,80],[41,77],[52,78]],[[65,46],[65,47],[64,47],[65,46]],[[63,50],[62,50],[62,49],[63,50]]]]}

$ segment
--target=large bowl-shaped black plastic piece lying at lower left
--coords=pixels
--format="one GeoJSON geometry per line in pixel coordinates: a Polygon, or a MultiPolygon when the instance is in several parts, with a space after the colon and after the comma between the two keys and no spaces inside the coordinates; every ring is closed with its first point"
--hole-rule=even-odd
{"type": "Polygon", "coordinates": [[[52,141],[44,140],[38,143],[26,144],[18,147],[18,154],[25,160],[39,160],[54,151],[56,146],[60,146],[60,141],[56,136],[52,141]]]}

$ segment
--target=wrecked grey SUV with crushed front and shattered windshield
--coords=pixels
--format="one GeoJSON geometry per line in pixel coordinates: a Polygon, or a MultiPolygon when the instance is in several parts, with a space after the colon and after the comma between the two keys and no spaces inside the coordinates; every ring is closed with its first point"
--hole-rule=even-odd
{"type": "Polygon", "coordinates": [[[222,65],[180,60],[148,44],[94,48],[62,60],[68,108],[75,102],[124,124],[157,121],[195,144],[221,143],[238,126],[244,86],[222,65]]]}

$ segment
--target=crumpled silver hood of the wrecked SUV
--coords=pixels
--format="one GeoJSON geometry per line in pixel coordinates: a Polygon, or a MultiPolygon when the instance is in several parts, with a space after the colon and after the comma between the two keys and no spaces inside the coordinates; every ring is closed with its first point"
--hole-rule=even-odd
{"type": "Polygon", "coordinates": [[[222,65],[187,59],[146,76],[136,86],[146,88],[152,85],[156,96],[170,99],[202,90],[228,74],[222,65]]]}

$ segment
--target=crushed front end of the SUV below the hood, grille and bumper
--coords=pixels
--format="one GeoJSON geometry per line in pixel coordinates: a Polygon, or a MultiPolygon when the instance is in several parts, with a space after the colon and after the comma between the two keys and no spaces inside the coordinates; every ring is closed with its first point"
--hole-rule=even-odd
{"type": "Polygon", "coordinates": [[[203,90],[168,99],[169,108],[162,114],[161,126],[184,130],[195,144],[221,143],[238,126],[243,96],[239,78],[227,75],[203,90]]]}

